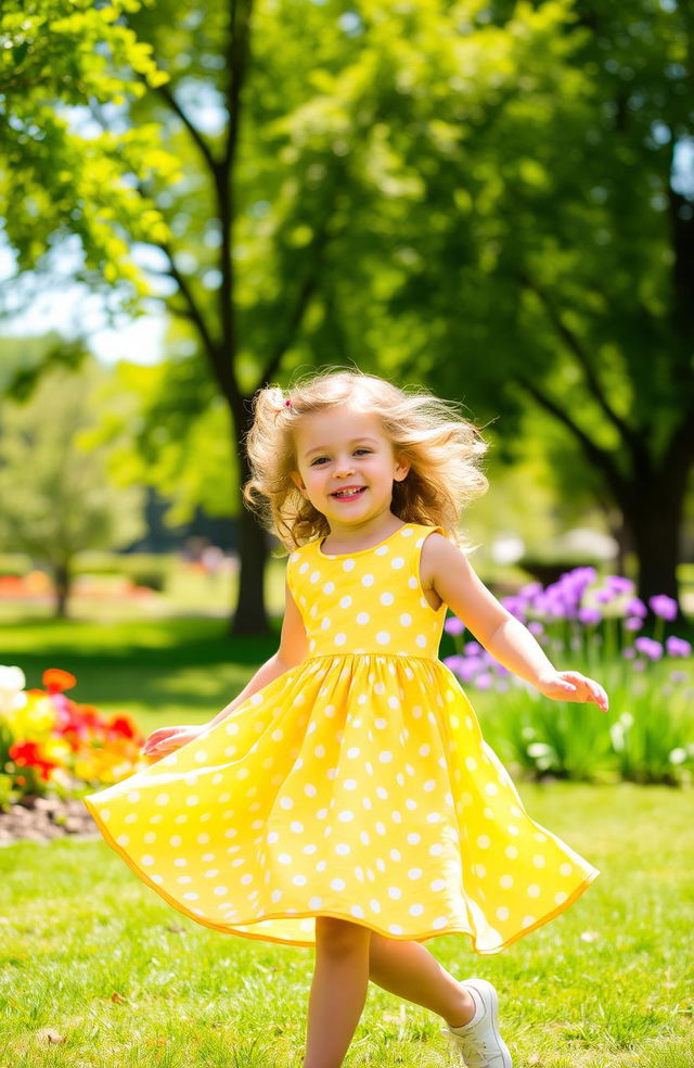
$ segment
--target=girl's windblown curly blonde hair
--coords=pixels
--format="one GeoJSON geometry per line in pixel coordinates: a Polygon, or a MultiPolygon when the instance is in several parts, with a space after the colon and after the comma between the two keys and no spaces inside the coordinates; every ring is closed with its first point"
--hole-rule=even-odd
{"type": "Polygon", "coordinates": [[[489,485],[479,466],[488,448],[479,429],[454,402],[424,386],[398,389],[359,370],[324,368],[286,392],[269,385],[255,394],[245,442],[252,478],[243,497],[265,529],[287,551],[330,534],[325,517],[291,478],[298,470],[294,431],[304,416],[347,404],[351,411],[376,416],[394,453],[410,462],[403,481],[393,484],[394,514],[406,523],[442,526],[455,545],[468,548],[458,530],[459,514],[489,485]]]}

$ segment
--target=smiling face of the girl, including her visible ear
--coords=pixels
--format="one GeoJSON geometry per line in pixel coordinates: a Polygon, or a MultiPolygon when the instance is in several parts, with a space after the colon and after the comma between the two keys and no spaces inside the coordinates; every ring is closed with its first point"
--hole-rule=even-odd
{"type": "Polygon", "coordinates": [[[361,529],[389,513],[393,483],[410,470],[394,455],[380,420],[347,407],[304,416],[294,444],[298,471],[292,478],[331,531],[361,529]]]}

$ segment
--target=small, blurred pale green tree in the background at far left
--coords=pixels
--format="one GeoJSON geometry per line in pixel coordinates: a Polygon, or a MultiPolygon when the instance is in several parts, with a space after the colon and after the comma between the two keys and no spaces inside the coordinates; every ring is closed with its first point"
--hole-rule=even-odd
{"type": "Polygon", "coordinates": [[[67,613],[75,555],[118,548],[143,530],[142,491],[115,487],[108,448],[86,437],[97,422],[104,372],[43,376],[30,399],[0,403],[0,545],[49,564],[55,614],[67,613]]]}

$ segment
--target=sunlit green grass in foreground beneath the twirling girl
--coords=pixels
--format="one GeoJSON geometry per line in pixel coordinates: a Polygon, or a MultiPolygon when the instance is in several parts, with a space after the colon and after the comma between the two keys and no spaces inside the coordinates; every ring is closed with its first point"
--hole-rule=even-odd
{"type": "MultiPolygon", "coordinates": [[[[501,954],[427,945],[500,991],[517,1068],[691,1068],[691,792],[519,784],[601,869],[501,954]]],[[[140,882],[101,839],[0,850],[0,1064],[298,1068],[313,953],[224,936],[140,882]],[[55,1043],[49,1041],[53,1033],[55,1043]]],[[[441,1021],[371,984],[345,1068],[451,1065],[441,1021]]]]}

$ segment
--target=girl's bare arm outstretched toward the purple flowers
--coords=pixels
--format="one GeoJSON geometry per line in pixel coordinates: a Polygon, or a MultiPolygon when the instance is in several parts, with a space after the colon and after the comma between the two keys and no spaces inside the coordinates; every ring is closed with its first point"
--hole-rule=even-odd
{"type": "Polygon", "coordinates": [[[599,683],[576,671],[556,671],[526,626],[485,586],[467,557],[440,534],[422,547],[422,582],[430,585],[475,638],[500,664],[536,686],[545,697],[594,701],[607,711],[599,683]]]}

